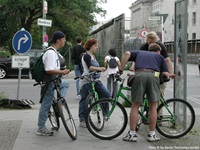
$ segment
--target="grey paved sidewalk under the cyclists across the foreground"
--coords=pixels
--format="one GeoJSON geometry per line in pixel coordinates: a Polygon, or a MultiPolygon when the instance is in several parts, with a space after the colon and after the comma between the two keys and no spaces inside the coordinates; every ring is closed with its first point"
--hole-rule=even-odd
{"type": "MultiPolygon", "coordinates": [[[[148,149],[192,149],[199,150],[200,146],[200,119],[196,116],[196,123],[192,131],[179,139],[168,139],[163,136],[158,142],[147,142],[148,126],[142,125],[138,132],[137,142],[124,142],[122,137],[127,133],[129,125],[124,133],[113,140],[105,141],[92,136],[86,128],[78,127],[77,105],[70,105],[72,115],[77,126],[78,138],[73,141],[61,122],[61,128],[54,136],[37,136],[37,117],[39,104],[29,110],[1,110],[0,116],[0,150],[148,150],[148,149]]],[[[47,126],[51,127],[49,121],[47,126]]],[[[157,131],[156,131],[157,132],[157,131]]],[[[158,133],[158,132],[157,132],[158,133]]]]}

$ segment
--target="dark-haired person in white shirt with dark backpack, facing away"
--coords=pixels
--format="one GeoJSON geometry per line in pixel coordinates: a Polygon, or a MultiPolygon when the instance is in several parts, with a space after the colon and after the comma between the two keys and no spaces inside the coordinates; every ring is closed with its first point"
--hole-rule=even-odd
{"type": "Polygon", "coordinates": [[[110,91],[112,97],[115,97],[117,94],[117,81],[115,81],[114,74],[118,72],[118,67],[121,65],[119,58],[116,56],[115,49],[109,49],[109,55],[105,57],[104,67],[106,70],[107,77],[107,89],[110,91]],[[112,85],[112,86],[111,86],[112,85]]]}

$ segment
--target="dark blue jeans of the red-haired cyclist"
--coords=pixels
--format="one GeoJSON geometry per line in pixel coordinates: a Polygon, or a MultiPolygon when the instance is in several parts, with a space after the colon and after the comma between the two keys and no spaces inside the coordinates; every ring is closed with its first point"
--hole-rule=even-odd
{"type": "MultiPolygon", "coordinates": [[[[79,101],[79,120],[80,122],[85,121],[86,117],[86,98],[88,94],[91,92],[92,87],[90,83],[86,83],[81,88],[81,100],[79,101]]],[[[101,81],[95,84],[95,90],[99,95],[99,99],[101,98],[110,98],[110,92],[106,87],[101,83],[101,81]]],[[[108,105],[105,106],[108,109],[108,105]]]]}

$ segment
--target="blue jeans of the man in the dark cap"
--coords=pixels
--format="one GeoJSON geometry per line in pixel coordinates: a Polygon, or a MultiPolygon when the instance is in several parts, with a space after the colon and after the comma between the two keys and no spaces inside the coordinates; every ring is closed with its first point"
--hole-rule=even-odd
{"type": "MultiPolygon", "coordinates": [[[[48,112],[51,108],[53,98],[54,98],[54,87],[55,87],[54,83],[51,82],[49,84],[49,87],[48,87],[46,93],[44,94],[43,99],[42,99],[42,103],[41,103],[40,111],[39,111],[39,117],[38,117],[38,128],[39,129],[46,128],[45,123],[47,121],[48,112]]],[[[62,97],[65,98],[68,88],[69,88],[69,82],[66,80],[62,80],[62,83],[60,85],[60,93],[61,93],[62,97]]]]}

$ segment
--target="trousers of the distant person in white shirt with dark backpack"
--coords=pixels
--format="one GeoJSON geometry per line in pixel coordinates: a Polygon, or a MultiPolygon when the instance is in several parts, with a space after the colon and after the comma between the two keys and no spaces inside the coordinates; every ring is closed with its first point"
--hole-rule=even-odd
{"type": "Polygon", "coordinates": [[[114,74],[110,74],[109,77],[107,78],[107,89],[108,91],[110,91],[112,97],[116,97],[118,90],[118,83],[117,81],[114,82],[114,74]]]}

